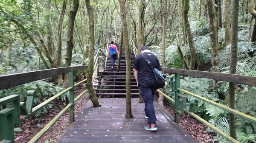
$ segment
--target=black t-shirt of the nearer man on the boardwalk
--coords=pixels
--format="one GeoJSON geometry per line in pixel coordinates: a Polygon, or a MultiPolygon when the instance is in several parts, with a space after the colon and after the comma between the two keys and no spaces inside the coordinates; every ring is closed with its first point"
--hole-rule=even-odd
{"type": "Polygon", "coordinates": [[[149,61],[152,63],[154,68],[157,68],[158,70],[162,70],[159,60],[157,59],[157,56],[153,53],[141,53],[135,57],[133,68],[137,69],[138,72],[138,84],[142,83],[146,80],[155,80],[154,73],[151,67],[148,65],[148,62],[146,62],[146,59],[149,59],[149,61]],[[143,54],[144,57],[141,55],[143,54]]]}

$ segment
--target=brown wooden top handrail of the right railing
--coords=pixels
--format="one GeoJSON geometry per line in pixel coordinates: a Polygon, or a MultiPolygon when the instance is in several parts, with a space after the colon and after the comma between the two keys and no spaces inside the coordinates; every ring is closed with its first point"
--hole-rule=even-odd
{"type": "Polygon", "coordinates": [[[236,84],[246,84],[256,87],[256,76],[244,76],[231,73],[215,73],[207,71],[198,71],[198,70],[181,70],[181,69],[172,69],[172,68],[162,68],[163,71],[169,73],[179,73],[187,76],[197,76],[207,79],[215,79],[219,81],[228,81],[236,84]]]}

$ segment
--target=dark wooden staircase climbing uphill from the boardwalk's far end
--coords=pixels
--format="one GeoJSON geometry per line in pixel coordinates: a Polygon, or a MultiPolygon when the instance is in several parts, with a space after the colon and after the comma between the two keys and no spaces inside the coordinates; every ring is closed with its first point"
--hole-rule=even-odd
{"type": "MultiPolygon", "coordinates": [[[[119,48],[117,46],[117,48],[119,48]]],[[[134,53],[130,53],[131,56],[131,97],[139,97],[139,88],[132,72],[132,65],[134,63],[134,53]]],[[[118,60],[118,59],[117,59],[118,60]]],[[[125,98],[125,80],[126,80],[126,59],[125,50],[122,50],[122,56],[120,61],[119,72],[116,72],[117,66],[111,68],[111,59],[108,58],[106,64],[106,70],[99,72],[94,85],[96,96],[99,98],[125,98]]]]}

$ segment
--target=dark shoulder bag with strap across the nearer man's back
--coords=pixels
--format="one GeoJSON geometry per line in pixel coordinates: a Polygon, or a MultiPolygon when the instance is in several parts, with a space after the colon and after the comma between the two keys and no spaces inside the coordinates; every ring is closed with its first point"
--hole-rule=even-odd
{"type": "Polygon", "coordinates": [[[143,56],[143,58],[145,59],[145,61],[148,63],[148,65],[151,67],[151,69],[153,70],[154,73],[154,77],[157,81],[157,86],[158,88],[162,88],[165,86],[165,80],[163,77],[163,74],[157,69],[154,68],[152,63],[149,61],[149,59],[145,58],[145,55],[141,54],[143,56]]]}

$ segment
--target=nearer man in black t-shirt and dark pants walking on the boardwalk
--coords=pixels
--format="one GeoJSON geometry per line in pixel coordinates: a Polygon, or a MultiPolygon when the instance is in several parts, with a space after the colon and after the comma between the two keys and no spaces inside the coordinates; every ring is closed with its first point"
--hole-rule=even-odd
{"type": "Polygon", "coordinates": [[[162,70],[157,56],[155,56],[148,48],[143,46],[140,48],[141,54],[137,55],[133,64],[133,73],[137,81],[137,86],[140,88],[140,94],[145,103],[145,118],[148,118],[148,125],[145,129],[148,131],[156,131],[156,115],[154,111],[154,93],[157,90],[157,81],[155,80],[153,70],[145,60],[149,59],[154,68],[162,70]],[[145,58],[142,56],[145,56],[145,58]]]}

